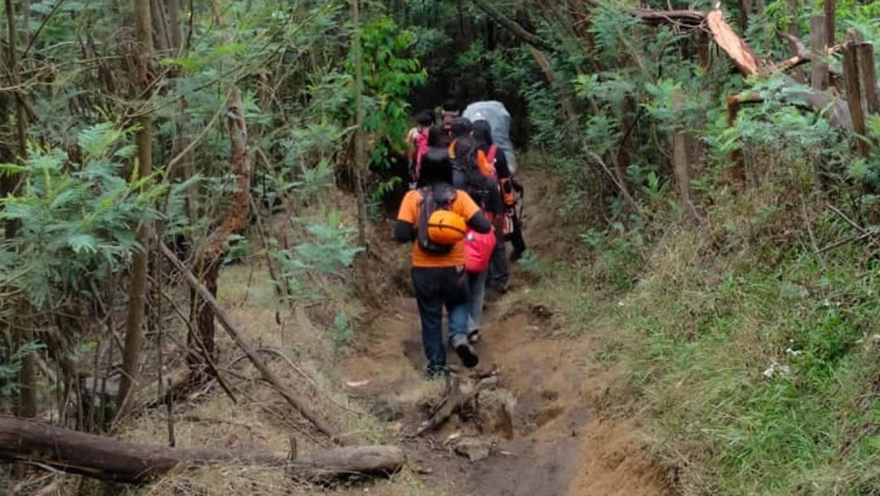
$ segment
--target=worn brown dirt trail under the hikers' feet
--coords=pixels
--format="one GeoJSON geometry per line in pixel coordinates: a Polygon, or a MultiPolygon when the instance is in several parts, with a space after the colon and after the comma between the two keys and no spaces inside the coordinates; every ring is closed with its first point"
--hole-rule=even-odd
{"type": "MultiPolygon", "coordinates": [[[[535,182],[527,187],[537,191],[535,182]]],[[[541,228],[536,217],[527,239],[541,228]]],[[[425,359],[413,298],[390,302],[396,311],[376,319],[361,352],[343,364],[352,394],[364,397],[399,430],[415,467],[449,494],[672,495],[645,452],[637,425],[598,413],[598,397],[608,384],[587,373],[588,341],[569,337],[540,304],[515,308],[520,291],[528,287],[521,285],[489,305],[477,373],[495,371],[499,384],[486,399],[481,393],[471,416],[454,417],[422,438],[408,435],[425,420],[424,403],[436,400],[444,387],[422,376],[425,359]],[[480,411],[486,409],[503,410],[502,421],[487,425],[480,411]],[[471,462],[456,454],[453,446],[464,438],[491,446],[489,456],[471,462]]],[[[450,357],[455,364],[454,353],[450,357]]]]}

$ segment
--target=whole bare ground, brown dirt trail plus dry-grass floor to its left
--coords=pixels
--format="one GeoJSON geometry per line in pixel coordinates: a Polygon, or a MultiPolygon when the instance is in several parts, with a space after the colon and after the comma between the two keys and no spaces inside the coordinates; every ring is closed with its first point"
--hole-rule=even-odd
{"type": "MultiPolygon", "coordinates": [[[[557,242],[561,226],[546,200],[553,197],[553,186],[529,170],[520,174],[533,199],[524,214],[530,248],[537,257],[560,261],[566,252],[557,242]]],[[[374,308],[351,309],[366,324],[343,352],[332,345],[332,332],[327,334],[333,314],[324,304],[288,310],[273,303],[268,273],[259,259],[221,273],[221,304],[246,338],[264,350],[283,381],[358,443],[398,444],[407,453],[407,468],[390,480],[325,487],[322,494],[674,494],[668,470],[656,462],[638,421],[621,414],[632,409],[615,405],[622,396],[615,393],[620,373],[596,363],[597,346],[589,332],[582,332],[597,316],[588,314],[574,331],[565,312],[550,310],[559,308],[551,300],[564,298],[559,289],[543,287],[541,277],[516,265],[511,290],[488,304],[483,340],[477,345],[480,365],[472,371],[455,367],[457,358],[449,354],[463,384],[490,375],[497,383],[436,431],[415,435],[448,393],[448,384],[423,376],[418,312],[414,298],[406,294],[411,291],[408,249],[390,241],[377,243],[387,243],[378,246],[378,261],[385,266],[372,271],[381,278],[372,282],[386,294],[382,301],[352,302],[374,308]]],[[[218,336],[217,342],[224,357],[221,369],[232,374],[228,381],[237,402],[216,385],[178,401],[173,425],[177,446],[283,452],[293,435],[300,452],[329,447],[246,362],[236,359],[240,353],[228,338],[218,336]]],[[[169,356],[174,349],[166,346],[169,356]]],[[[168,415],[163,410],[134,419],[122,436],[167,443],[168,415]]],[[[291,485],[283,470],[235,464],[175,473],[132,491],[137,496],[316,492],[307,485],[291,485]]]]}

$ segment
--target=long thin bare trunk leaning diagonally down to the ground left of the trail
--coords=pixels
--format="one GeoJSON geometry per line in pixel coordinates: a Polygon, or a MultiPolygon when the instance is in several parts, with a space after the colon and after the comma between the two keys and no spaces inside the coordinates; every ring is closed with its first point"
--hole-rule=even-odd
{"type": "Polygon", "coordinates": [[[334,442],[338,444],[344,444],[343,438],[333,429],[330,425],[318,414],[316,414],[312,409],[306,405],[302,400],[296,397],[296,395],[288,389],[279,379],[278,377],[266,366],[266,364],[260,359],[260,356],[257,354],[257,351],[248,343],[242,333],[238,330],[235,324],[232,323],[232,319],[226,315],[226,312],[220,306],[220,303],[214,298],[214,295],[208,291],[208,288],[205,287],[204,284],[199,282],[193,273],[183,265],[183,262],[177,258],[177,256],[172,252],[164,243],[159,243],[159,249],[162,250],[162,254],[165,258],[171,262],[174,267],[183,274],[184,279],[186,279],[187,284],[192,287],[199,296],[205,301],[205,304],[211,307],[211,311],[217,317],[217,320],[220,321],[220,325],[223,326],[223,329],[226,330],[226,333],[229,334],[229,337],[235,341],[235,344],[244,351],[245,355],[247,355],[250,362],[256,367],[256,369],[260,372],[260,375],[263,379],[275,387],[281,396],[284,397],[285,400],[292,406],[296,411],[302,414],[303,417],[308,419],[319,431],[329,436],[334,442]]]}

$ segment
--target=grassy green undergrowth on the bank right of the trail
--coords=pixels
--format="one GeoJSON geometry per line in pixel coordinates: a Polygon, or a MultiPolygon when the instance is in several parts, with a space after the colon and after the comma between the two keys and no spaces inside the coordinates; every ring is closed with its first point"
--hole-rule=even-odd
{"type": "MultiPolygon", "coordinates": [[[[880,263],[808,167],[716,190],[709,228],[675,209],[587,229],[580,261],[530,262],[549,302],[621,373],[687,495],[880,494],[880,263]]],[[[624,405],[624,406],[620,406],[624,405]]]]}

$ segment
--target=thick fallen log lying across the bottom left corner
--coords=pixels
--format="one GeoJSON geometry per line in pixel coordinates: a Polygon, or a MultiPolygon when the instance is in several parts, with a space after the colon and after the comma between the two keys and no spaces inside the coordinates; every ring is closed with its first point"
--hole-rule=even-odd
{"type": "Polygon", "coordinates": [[[288,453],[181,449],[130,443],[30,420],[0,417],[0,460],[39,463],[95,479],[143,483],[178,467],[246,463],[287,467],[312,482],[394,473],[403,466],[396,446],[335,448],[293,460],[288,453]]]}

